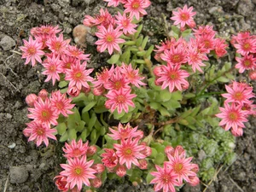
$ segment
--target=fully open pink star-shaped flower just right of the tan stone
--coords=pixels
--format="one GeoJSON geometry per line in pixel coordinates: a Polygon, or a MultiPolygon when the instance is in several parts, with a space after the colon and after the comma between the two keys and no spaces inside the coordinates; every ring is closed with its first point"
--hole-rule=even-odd
{"type": "Polygon", "coordinates": [[[108,53],[111,55],[113,50],[120,51],[119,44],[125,43],[125,40],[119,38],[122,35],[122,32],[118,28],[113,29],[112,25],[108,26],[108,29],[105,26],[101,26],[99,31],[95,33],[99,40],[95,44],[98,45],[100,52],[108,49],[108,53]]]}

